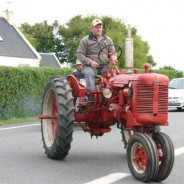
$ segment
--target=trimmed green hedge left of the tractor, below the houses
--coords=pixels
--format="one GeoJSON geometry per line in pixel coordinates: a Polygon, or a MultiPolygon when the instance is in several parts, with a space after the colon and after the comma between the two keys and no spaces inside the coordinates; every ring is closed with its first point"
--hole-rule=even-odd
{"type": "Polygon", "coordinates": [[[67,76],[72,71],[72,68],[0,67],[0,120],[38,116],[49,77],[67,76]]]}

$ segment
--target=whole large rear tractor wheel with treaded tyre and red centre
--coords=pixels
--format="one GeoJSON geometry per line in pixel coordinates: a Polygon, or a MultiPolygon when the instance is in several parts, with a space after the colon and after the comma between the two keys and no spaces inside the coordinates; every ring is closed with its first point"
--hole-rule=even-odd
{"type": "Polygon", "coordinates": [[[68,155],[73,122],[73,97],[67,80],[50,78],[43,94],[41,115],[42,140],[48,157],[62,159],[68,155]]]}

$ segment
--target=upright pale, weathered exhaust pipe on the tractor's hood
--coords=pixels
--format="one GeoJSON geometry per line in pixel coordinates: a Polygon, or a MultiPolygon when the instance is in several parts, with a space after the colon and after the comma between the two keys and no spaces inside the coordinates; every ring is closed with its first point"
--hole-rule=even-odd
{"type": "Polygon", "coordinates": [[[131,38],[131,26],[128,25],[128,35],[125,39],[125,67],[127,68],[126,73],[133,73],[134,65],[134,51],[133,51],[133,38],[131,38]]]}

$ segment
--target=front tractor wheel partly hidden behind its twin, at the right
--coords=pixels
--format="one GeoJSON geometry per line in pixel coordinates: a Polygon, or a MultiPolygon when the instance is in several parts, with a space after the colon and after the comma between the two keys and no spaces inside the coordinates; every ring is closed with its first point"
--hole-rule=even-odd
{"type": "Polygon", "coordinates": [[[163,181],[169,176],[173,168],[174,146],[170,137],[162,132],[154,133],[153,140],[159,155],[159,171],[154,181],[163,181]]]}

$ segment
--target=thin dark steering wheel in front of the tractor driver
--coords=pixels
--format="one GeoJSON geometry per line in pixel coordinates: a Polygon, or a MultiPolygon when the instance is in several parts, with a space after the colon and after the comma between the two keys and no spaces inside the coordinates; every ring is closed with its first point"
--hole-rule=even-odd
{"type": "Polygon", "coordinates": [[[102,56],[106,55],[108,58],[110,58],[111,56],[113,56],[113,55],[115,55],[115,54],[116,54],[117,60],[118,60],[118,59],[121,57],[122,48],[121,48],[119,45],[115,45],[115,44],[106,45],[105,47],[103,47],[103,48],[99,51],[99,53],[98,53],[98,59],[99,59],[102,63],[108,64],[107,61],[104,61],[104,60],[102,59],[102,56]],[[109,49],[110,49],[110,47],[114,47],[114,48],[115,48],[114,52],[112,52],[112,53],[109,53],[109,52],[108,52],[109,49]]]}

